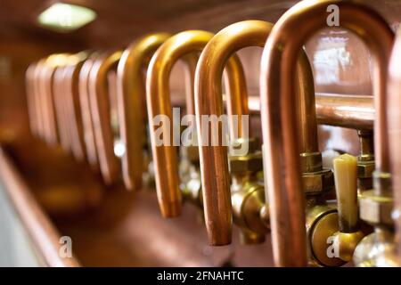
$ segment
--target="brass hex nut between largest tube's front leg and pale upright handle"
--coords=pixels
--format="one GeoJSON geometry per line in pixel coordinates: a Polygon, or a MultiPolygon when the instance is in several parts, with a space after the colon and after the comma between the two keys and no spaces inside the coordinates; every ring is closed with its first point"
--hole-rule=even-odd
{"type": "Polygon", "coordinates": [[[302,175],[302,184],[307,194],[325,193],[334,187],[334,176],[331,169],[323,169],[302,175]]]}

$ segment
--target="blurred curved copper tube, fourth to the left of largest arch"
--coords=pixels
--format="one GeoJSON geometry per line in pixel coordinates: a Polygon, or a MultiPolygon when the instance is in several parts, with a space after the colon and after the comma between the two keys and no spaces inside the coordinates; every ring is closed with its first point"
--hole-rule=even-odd
{"type": "Polygon", "coordinates": [[[114,134],[110,125],[110,100],[107,74],[117,67],[121,51],[104,53],[95,61],[89,75],[89,104],[94,123],[94,140],[102,177],[114,183],[119,176],[119,161],[114,155],[114,134]]]}

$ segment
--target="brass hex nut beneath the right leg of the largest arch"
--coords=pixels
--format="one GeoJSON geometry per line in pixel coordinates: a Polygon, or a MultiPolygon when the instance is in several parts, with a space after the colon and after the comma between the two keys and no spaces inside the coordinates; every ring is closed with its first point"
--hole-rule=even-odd
{"type": "Polygon", "coordinates": [[[391,212],[393,199],[388,196],[376,195],[373,190],[364,191],[359,199],[360,216],[369,224],[392,225],[391,212]]]}

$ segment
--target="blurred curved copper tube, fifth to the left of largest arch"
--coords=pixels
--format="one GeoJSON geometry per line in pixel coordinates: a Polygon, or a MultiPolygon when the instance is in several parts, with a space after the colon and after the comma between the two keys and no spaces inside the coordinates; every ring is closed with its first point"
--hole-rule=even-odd
{"type": "Polygon", "coordinates": [[[97,156],[96,144],[94,141],[94,122],[92,118],[92,110],[89,103],[89,75],[94,65],[94,60],[97,54],[93,53],[84,62],[79,71],[78,78],[78,94],[79,94],[79,105],[81,108],[82,126],[84,129],[84,142],[86,149],[86,159],[92,169],[97,172],[99,171],[99,159],[97,156]]]}

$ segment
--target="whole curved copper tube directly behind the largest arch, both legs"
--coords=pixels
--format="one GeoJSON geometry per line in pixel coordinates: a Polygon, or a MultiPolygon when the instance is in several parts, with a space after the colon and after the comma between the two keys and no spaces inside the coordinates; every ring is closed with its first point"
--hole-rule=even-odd
{"type": "MultiPolygon", "coordinates": [[[[273,24],[260,20],[245,20],[222,29],[201,54],[201,59],[196,70],[196,100],[197,100],[197,125],[201,129],[201,116],[214,114],[220,116],[223,113],[223,99],[221,91],[221,75],[225,61],[236,51],[247,46],[263,47],[266,43],[273,24]]],[[[299,58],[299,124],[302,125],[302,150],[303,152],[318,151],[317,130],[315,121],[315,96],[312,70],[307,55],[302,53],[299,58]],[[311,95],[313,94],[313,95],[311,95]],[[315,126],[315,127],[314,127],[315,126]]],[[[233,114],[248,114],[248,98],[246,90],[245,102],[242,105],[246,109],[233,109],[233,102],[239,99],[228,94],[227,112],[233,114]],[[231,109],[231,110],[230,110],[231,109]]],[[[241,98],[241,100],[243,100],[241,98]]],[[[239,119],[240,120],[240,119],[239,119]]],[[[202,142],[202,132],[199,134],[199,143],[202,142]]],[[[241,132],[239,132],[241,137],[241,132]]],[[[231,241],[231,194],[229,188],[229,174],[226,148],[221,146],[201,146],[201,178],[205,219],[209,232],[209,242],[212,245],[223,245],[231,241]],[[217,176],[216,175],[221,175],[217,176]]]]}

